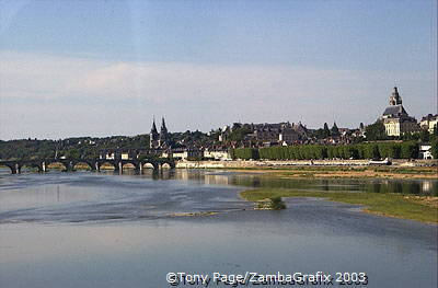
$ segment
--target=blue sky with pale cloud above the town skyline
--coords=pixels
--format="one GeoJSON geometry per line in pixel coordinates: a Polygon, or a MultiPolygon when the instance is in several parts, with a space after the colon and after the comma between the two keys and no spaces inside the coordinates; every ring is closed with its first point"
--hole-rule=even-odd
{"type": "Polygon", "coordinates": [[[0,1],[0,139],[437,113],[437,1],[0,1]]]}

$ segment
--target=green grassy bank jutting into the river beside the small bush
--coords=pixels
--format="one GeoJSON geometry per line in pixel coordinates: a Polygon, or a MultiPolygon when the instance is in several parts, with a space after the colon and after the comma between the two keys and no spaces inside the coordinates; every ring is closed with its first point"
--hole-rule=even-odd
{"type": "Polygon", "coordinates": [[[390,193],[312,192],[291,189],[249,189],[241,197],[260,201],[272,197],[319,197],[333,201],[365,206],[365,211],[438,223],[438,201],[433,196],[413,196],[390,193]]]}

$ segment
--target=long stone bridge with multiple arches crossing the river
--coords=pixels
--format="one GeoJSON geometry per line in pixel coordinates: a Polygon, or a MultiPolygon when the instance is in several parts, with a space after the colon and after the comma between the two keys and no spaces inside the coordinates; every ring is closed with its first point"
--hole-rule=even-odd
{"type": "Polygon", "coordinates": [[[36,168],[38,172],[47,172],[48,165],[59,163],[65,166],[64,171],[74,171],[77,164],[85,164],[90,166],[91,171],[101,171],[103,164],[114,166],[114,171],[123,172],[124,166],[127,164],[134,165],[135,170],[142,172],[146,164],[151,164],[154,171],[159,171],[164,164],[171,169],[175,168],[173,159],[142,159],[142,160],[127,160],[127,159],[39,159],[39,160],[7,160],[0,161],[0,165],[8,166],[12,174],[21,173],[23,166],[36,168]]]}

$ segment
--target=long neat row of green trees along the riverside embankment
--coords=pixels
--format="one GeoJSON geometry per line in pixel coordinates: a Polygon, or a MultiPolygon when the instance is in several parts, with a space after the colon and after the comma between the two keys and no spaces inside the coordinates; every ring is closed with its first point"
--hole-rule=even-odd
{"type": "Polygon", "coordinates": [[[310,160],[310,159],[416,159],[418,158],[418,143],[406,142],[381,142],[358,143],[344,146],[302,145],[302,146],[277,146],[268,148],[238,148],[232,149],[233,159],[243,160],[310,160]]]}

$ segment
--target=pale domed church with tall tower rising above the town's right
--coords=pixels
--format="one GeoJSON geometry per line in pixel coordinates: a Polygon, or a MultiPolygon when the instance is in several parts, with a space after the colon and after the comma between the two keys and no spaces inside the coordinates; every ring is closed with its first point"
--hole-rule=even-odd
{"type": "Polygon", "coordinates": [[[404,110],[396,87],[390,95],[390,105],[384,110],[381,119],[388,136],[401,136],[405,133],[418,131],[417,120],[404,110]]]}

